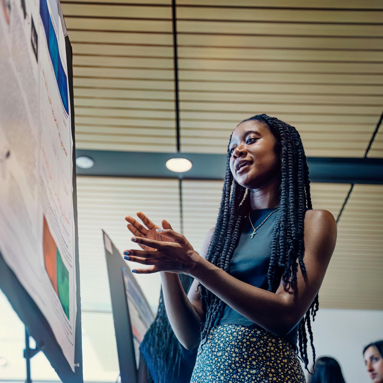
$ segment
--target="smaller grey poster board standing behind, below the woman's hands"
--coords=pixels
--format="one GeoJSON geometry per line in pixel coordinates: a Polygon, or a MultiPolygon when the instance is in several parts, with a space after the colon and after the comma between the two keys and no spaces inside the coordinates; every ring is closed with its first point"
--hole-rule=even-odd
{"type": "Polygon", "coordinates": [[[121,253],[103,231],[121,383],[136,383],[139,345],[154,315],[121,253]]]}

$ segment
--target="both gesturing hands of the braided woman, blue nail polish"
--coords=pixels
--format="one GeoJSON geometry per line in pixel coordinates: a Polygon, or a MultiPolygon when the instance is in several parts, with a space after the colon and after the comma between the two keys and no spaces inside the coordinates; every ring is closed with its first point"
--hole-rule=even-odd
{"type": "Polygon", "coordinates": [[[193,250],[187,239],[182,234],[175,232],[165,220],[162,221],[164,229],[160,229],[144,214],[137,213],[137,216],[148,229],[145,229],[132,217],[127,216],[125,219],[131,222],[128,228],[134,234],[132,241],[139,244],[144,250],[125,250],[124,258],[143,265],[152,265],[152,267],[133,269],[132,272],[150,274],[167,271],[191,275],[200,256],[193,250]],[[133,226],[133,228],[129,226],[133,226]]]}

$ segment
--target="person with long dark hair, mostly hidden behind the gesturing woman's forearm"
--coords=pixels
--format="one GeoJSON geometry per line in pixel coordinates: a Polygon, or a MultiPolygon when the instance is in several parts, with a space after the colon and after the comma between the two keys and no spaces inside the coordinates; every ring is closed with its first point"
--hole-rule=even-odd
{"type": "MultiPolygon", "coordinates": [[[[180,274],[187,294],[193,278],[180,274]]],[[[140,345],[138,383],[189,383],[197,347],[187,350],[176,338],[166,315],[161,289],[157,315],[140,345]]]]}

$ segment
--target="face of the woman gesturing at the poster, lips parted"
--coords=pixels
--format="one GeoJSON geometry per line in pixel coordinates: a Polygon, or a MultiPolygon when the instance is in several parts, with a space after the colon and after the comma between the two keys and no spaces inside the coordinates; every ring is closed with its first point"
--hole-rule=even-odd
{"type": "Polygon", "coordinates": [[[230,170],[239,185],[255,189],[279,175],[275,143],[273,134],[260,121],[245,121],[234,129],[229,144],[230,170]]]}

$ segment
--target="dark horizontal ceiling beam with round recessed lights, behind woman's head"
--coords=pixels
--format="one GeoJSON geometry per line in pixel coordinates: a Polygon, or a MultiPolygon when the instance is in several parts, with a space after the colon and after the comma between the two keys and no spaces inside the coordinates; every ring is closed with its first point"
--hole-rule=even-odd
{"type": "MultiPolygon", "coordinates": [[[[95,166],[77,167],[78,175],[221,180],[226,168],[225,154],[181,153],[193,163],[193,167],[182,174],[165,167],[168,159],[177,157],[176,153],[77,149],[76,157],[80,155],[91,157],[95,166]]],[[[383,184],[383,159],[380,158],[308,157],[307,161],[313,182],[383,184]]]]}

